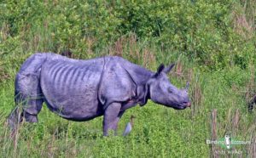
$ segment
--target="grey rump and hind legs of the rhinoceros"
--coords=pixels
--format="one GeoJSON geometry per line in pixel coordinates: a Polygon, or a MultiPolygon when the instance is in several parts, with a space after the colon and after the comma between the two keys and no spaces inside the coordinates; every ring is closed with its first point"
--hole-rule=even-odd
{"type": "Polygon", "coordinates": [[[40,87],[41,67],[48,54],[33,54],[21,65],[15,78],[15,109],[9,114],[9,127],[15,129],[22,121],[37,122],[44,102],[40,87]]]}

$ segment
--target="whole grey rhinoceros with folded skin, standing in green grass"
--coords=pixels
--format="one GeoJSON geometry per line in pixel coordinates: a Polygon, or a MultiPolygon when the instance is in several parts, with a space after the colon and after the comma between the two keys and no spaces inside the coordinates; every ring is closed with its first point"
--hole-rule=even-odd
{"type": "Polygon", "coordinates": [[[156,73],[120,57],[89,60],[68,59],[58,54],[33,54],[15,79],[15,102],[22,104],[9,115],[9,126],[37,122],[45,102],[49,110],[72,121],[104,116],[103,134],[117,130],[125,110],[148,99],[176,110],[190,105],[186,89],[169,82],[166,73],[173,65],[160,65],[156,73]]]}

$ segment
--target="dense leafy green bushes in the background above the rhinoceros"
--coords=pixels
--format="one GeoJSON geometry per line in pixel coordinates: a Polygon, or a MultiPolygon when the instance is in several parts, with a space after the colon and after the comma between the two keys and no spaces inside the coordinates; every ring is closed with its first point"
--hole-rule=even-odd
{"type": "Polygon", "coordinates": [[[3,42],[23,41],[20,44],[26,53],[71,49],[78,58],[90,58],[134,32],[137,40],[161,47],[164,55],[186,54],[206,70],[229,65],[246,68],[255,60],[255,36],[253,26],[249,27],[252,18],[245,19],[248,25],[239,22],[252,9],[231,0],[23,0],[19,5],[12,0],[3,1],[0,7],[3,42]]]}

